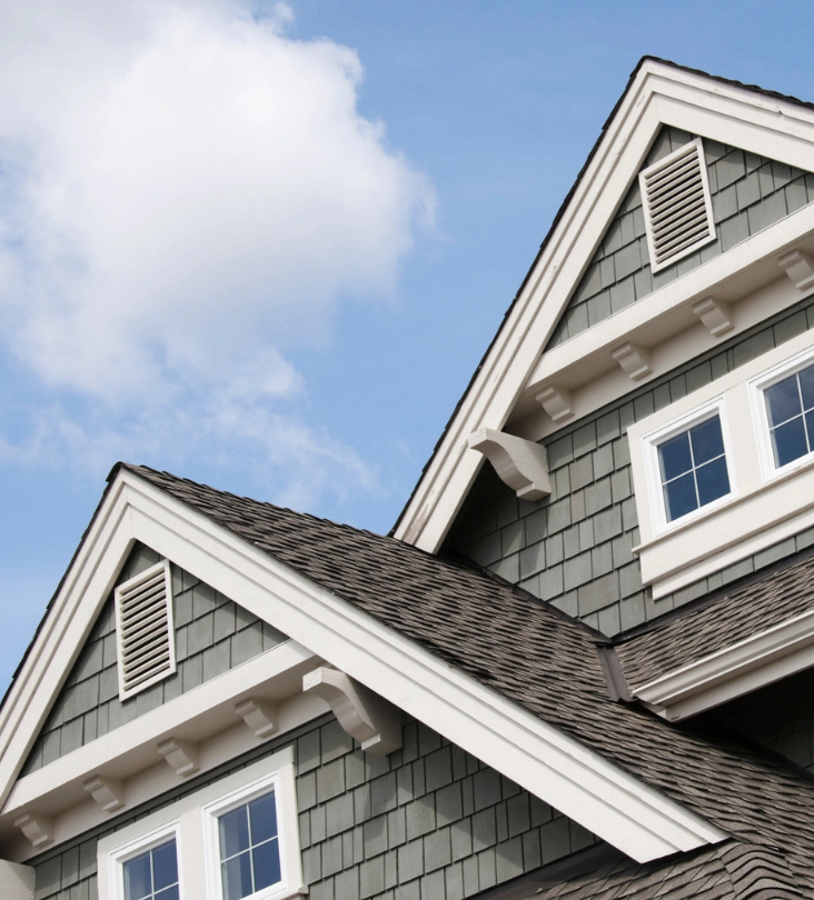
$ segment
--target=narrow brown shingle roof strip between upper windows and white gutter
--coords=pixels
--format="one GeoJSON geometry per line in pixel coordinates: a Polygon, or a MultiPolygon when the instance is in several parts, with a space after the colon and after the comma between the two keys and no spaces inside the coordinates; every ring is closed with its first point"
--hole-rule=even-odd
{"type": "Polygon", "coordinates": [[[682,607],[614,642],[632,689],[814,609],[814,553],[682,607]]]}

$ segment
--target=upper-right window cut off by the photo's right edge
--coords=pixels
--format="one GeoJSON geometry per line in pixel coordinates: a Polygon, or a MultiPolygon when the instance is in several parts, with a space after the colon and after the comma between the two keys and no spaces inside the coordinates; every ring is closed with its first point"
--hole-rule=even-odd
{"type": "Polygon", "coordinates": [[[765,388],[774,466],[781,469],[814,447],[814,366],[765,388]]]}

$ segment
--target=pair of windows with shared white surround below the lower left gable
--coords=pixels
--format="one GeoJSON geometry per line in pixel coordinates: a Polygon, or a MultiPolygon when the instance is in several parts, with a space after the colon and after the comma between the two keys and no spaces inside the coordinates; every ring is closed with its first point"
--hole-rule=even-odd
{"type": "Polygon", "coordinates": [[[102,838],[99,900],[286,900],[305,891],[287,747],[102,838]]]}

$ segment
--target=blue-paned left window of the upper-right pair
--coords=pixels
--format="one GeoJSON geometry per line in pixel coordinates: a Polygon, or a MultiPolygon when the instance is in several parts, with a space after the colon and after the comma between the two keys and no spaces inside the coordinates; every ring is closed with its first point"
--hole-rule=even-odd
{"type": "Polygon", "coordinates": [[[658,463],[668,522],[729,492],[721,417],[713,416],[658,444],[658,463]]]}

